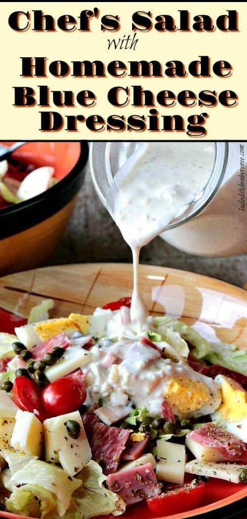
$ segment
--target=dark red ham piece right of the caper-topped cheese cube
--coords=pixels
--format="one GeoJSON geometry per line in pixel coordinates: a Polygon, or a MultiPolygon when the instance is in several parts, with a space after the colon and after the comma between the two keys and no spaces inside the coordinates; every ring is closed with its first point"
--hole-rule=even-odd
{"type": "Polygon", "coordinates": [[[94,425],[90,445],[92,458],[94,461],[101,461],[104,474],[117,470],[129,433],[128,429],[109,427],[100,423],[94,425]]]}

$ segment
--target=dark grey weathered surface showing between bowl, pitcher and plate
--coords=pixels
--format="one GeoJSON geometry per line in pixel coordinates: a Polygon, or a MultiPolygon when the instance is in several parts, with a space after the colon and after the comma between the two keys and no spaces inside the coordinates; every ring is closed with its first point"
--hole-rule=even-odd
{"type": "MultiPolygon", "coordinates": [[[[46,265],[132,261],[118,227],[98,199],[89,171],[65,233],[46,265]]],[[[140,262],[163,265],[212,276],[235,285],[247,282],[247,255],[208,258],[192,256],[155,238],[143,247],[140,262]]]]}

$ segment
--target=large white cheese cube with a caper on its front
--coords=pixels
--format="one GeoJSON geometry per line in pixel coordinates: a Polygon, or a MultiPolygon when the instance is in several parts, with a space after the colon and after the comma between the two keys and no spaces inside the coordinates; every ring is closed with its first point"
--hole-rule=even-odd
{"type": "Polygon", "coordinates": [[[70,476],[78,474],[92,458],[79,411],[48,418],[43,422],[43,428],[46,461],[61,463],[70,476]],[[68,434],[67,420],[75,420],[80,424],[80,434],[76,440],[68,434]]]}

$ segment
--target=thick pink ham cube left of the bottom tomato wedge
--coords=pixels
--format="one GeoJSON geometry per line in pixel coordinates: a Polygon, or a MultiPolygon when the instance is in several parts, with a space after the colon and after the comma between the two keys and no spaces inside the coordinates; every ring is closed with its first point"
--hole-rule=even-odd
{"type": "Polygon", "coordinates": [[[106,483],[109,490],[117,492],[127,504],[134,504],[161,493],[151,463],[110,474],[106,483]]]}

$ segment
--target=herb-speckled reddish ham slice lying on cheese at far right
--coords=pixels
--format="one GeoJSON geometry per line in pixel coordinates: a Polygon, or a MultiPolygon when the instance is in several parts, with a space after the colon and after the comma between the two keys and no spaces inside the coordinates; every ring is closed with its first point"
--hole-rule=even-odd
{"type": "Polygon", "coordinates": [[[247,444],[237,436],[212,423],[204,424],[187,437],[205,447],[215,448],[225,461],[247,462],[247,444]]]}

